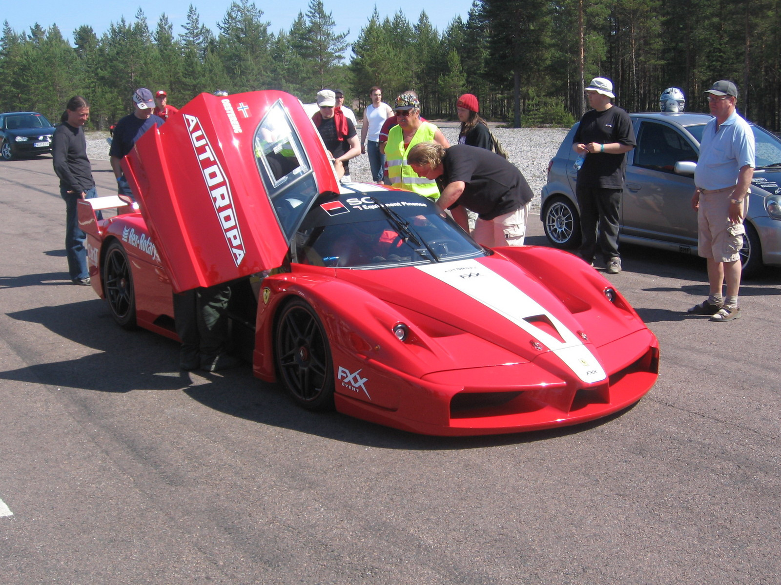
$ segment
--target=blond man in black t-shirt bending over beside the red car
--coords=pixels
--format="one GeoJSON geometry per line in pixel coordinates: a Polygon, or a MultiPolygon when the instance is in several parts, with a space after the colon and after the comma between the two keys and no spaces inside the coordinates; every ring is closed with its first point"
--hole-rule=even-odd
{"type": "Polygon", "coordinates": [[[484,148],[422,142],[412,147],[407,162],[419,176],[436,179],[437,207],[450,209],[455,221],[469,231],[466,210],[477,214],[472,232],[483,246],[522,246],[533,193],[512,164],[484,148]]]}

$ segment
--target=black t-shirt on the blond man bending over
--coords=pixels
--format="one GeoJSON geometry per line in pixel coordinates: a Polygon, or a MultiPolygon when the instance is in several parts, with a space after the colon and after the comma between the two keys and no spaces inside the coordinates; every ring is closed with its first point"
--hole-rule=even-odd
{"type": "Polygon", "coordinates": [[[511,213],[532,200],[529,183],[518,168],[485,148],[456,144],[445,151],[442,166],[444,172],[437,178],[440,191],[463,181],[464,192],[452,207],[463,205],[480,219],[511,213]]]}

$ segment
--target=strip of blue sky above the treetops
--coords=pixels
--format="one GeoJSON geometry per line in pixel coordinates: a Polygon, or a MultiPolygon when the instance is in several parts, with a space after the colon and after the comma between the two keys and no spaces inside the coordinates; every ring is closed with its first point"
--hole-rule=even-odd
{"type": "MultiPolygon", "coordinates": [[[[201,24],[217,33],[217,23],[223,20],[230,6],[230,0],[165,0],[151,2],[148,0],[130,0],[130,2],[105,2],[105,0],[78,0],[69,5],[62,0],[38,0],[38,2],[19,2],[19,0],[0,0],[0,21],[7,20],[17,33],[27,33],[35,23],[41,27],[51,27],[56,24],[62,35],[72,41],[73,30],[82,24],[90,25],[98,37],[109,29],[112,22],[118,22],[123,16],[132,22],[139,8],[144,11],[149,27],[154,30],[160,15],[165,12],[173,24],[173,33],[183,32],[181,25],[187,22],[187,9],[192,4],[198,10],[201,24]]],[[[263,11],[263,19],[269,21],[269,32],[277,33],[291,27],[298,12],[306,12],[309,0],[288,0],[287,2],[263,2],[256,0],[255,6],[263,11]]],[[[333,2],[323,0],[326,12],[331,12],[337,22],[337,32],[350,30],[348,41],[355,41],[362,27],[366,26],[372,15],[375,4],[362,2],[333,2]]],[[[421,2],[382,2],[377,5],[380,18],[393,17],[401,10],[411,23],[416,23],[420,12],[425,10],[433,27],[440,33],[456,16],[466,20],[472,0],[421,0],[421,2]],[[447,6],[447,8],[442,8],[447,6]]],[[[348,58],[350,53],[348,51],[348,58]]]]}

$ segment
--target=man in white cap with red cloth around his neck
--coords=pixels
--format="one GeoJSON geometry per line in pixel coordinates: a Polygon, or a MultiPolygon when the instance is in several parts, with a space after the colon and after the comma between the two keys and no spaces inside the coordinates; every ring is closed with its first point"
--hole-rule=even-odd
{"type": "Polygon", "coordinates": [[[361,143],[358,133],[351,120],[336,108],[336,94],[331,90],[317,92],[317,105],[320,111],[312,116],[326,151],[330,154],[337,177],[343,183],[348,183],[350,166],[348,161],[361,154],[361,143]]]}

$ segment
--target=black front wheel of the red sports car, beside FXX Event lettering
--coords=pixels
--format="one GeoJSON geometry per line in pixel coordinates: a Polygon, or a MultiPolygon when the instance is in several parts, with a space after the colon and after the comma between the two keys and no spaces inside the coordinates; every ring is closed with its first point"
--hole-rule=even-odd
{"type": "Polygon", "coordinates": [[[323,323],[303,300],[285,305],[274,335],[280,381],[298,406],[333,408],[333,363],[323,323]]]}

